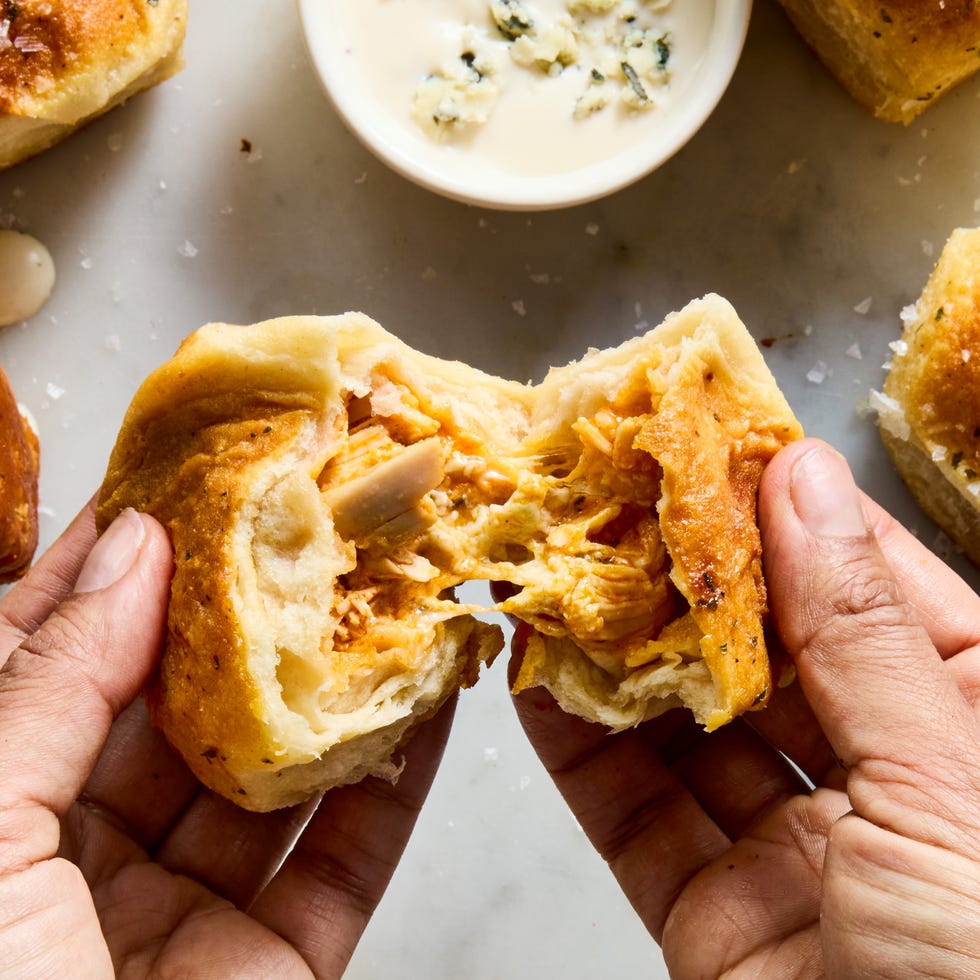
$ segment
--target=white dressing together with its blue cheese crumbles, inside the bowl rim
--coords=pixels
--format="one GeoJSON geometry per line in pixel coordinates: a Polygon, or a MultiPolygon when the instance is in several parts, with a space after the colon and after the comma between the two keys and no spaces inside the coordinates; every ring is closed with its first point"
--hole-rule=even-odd
{"type": "Polygon", "coordinates": [[[664,125],[712,13],[701,0],[338,0],[332,19],[364,111],[415,159],[544,177],[664,125]]]}

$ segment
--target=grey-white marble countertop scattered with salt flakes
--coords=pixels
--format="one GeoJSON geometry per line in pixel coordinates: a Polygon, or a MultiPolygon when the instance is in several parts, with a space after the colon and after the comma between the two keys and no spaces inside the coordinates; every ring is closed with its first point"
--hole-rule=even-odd
{"type": "MultiPolygon", "coordinates": [[[[805,428],[942,548],[860,407],[947,235],[980,224],[980,77],[908,128],[880,123],[759,0],[731,88],[676,157],[605,200],[517,214],[376,162],[287,0],[194,4],[186,51],[175,79],[0,174],[0,227],[44,241],[59,274],[41,313],[0,331],[40,427],[43,543],[97,487],[138,383],[209,320],[359,309],[524,380],[715,291],[767,341],[805,428]]],[[[504,670],[463,696],[349,976],[665,976],[527,747],[504,670]]]]}

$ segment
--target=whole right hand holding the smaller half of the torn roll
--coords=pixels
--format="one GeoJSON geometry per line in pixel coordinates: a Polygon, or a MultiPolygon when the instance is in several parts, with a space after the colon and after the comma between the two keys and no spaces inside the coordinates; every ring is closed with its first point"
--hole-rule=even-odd
{"type": "Polygon", "coordinates": [[[528,735],[671,976],[980,976],[980,599],[821,443],[760,515],[797,684],[713,735],[610,736],[532,689],[528,735]]]}

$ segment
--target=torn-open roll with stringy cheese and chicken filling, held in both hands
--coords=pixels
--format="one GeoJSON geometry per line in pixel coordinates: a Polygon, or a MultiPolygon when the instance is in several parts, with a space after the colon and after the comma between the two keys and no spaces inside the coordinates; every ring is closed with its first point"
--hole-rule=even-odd
{"type": "Polygon", "coordinates": [[[621,729],[709,729],[771,686],[756,490],[801,435],[731,306],[690,304],[539,385],[418,353],[358,314],[211,324],[142,385],[98,521],[168,528],[152,716],[251,809],[367,773],[503,644],[517,687],[621,729]]]}

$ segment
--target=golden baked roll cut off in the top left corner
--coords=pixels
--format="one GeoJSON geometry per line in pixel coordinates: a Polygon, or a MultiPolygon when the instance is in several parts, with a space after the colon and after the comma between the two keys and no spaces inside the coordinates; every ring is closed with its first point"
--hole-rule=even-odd
{"type": "Polygon", "coordinates": [[[0,169],[181,67],[187,0],[0,4],[0,169]]]}

